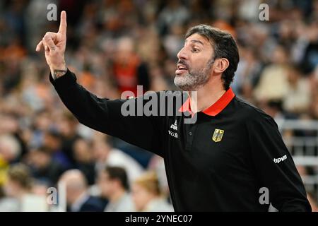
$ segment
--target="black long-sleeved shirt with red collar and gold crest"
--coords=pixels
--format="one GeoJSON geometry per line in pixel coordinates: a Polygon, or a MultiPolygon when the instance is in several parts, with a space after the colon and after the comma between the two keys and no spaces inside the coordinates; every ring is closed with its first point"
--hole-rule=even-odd
{"type": "Polygon", "coordinates": [[[193,117],[189,99],[180,108],[174,104],[179,115],[125,117],[125,102],[149,100],[96,97],[76,83],[71,71],[55,81],[49,77],[82,124],[164,158],[176,211],[267,211],[269,202],[279,211],[311,210],[275,121],[231,89],[196,113],[194,124],[185,124],[193,117]]]}

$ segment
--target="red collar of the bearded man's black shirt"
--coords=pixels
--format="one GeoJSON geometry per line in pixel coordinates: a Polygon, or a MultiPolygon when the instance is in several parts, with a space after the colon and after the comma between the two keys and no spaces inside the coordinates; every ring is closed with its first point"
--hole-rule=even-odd
{"type": "MultiPolygon", "coordinates": [[[[202,112],[210,116],[216,116],[217,114],[222,112],[222,110],[225,109],[226,106],[228,106],[228,104],[234,97],[235,97],[235,93],[233,93],[232,88],[229,88],[222,95],[222,97],[220,97],[220,99],[218,99],[213,105],[211,105],[207,109],[204,109],[204,111],[202,112]]],[[[190,112],[193,116],[194,114],[191,111],[190,101],[191,100],[188,97],[187,100],[184,102],[184,104],[179,108],[179,112],[190,112]]]]}

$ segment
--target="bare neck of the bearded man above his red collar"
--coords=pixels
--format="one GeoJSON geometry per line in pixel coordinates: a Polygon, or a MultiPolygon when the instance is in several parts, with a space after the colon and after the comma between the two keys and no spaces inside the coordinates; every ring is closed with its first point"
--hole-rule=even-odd
{"type": "Polygon", "coordinates": [[[225,92],[226,90],[224,90],[222,83],[213,83],[213,81],[199,88],[196,92],[196,97],[194,93],[189,92],[192,112],[196,113],[207,109],[217,102],[225,92]]]}

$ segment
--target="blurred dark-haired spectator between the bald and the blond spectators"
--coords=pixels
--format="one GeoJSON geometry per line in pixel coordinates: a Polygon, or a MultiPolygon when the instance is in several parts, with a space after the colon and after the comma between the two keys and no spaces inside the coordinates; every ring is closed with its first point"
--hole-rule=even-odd
{"type": "Polygon", "coordinates": [[[134,203],[129,192],[129,181],[126,171],[122,167],[106,167],[100,171],[98,185],[101,195],[107,198],[106,212],[132,212],[134,203]]]}

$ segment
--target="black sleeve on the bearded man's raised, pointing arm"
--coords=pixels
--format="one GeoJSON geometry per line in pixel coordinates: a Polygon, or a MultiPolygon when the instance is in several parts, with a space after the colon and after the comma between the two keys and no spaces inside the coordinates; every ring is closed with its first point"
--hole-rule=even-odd
{"type": "Polygon", "coordinates": [[[163,157],[160,145],[160,126],[162,117],[126,116],[121,108],[124,102],[137,105],[137,98],[129,100],[109,100],[93,95],[76,83],[76,76],[67,71],[64,76],[54,80],[49,75],[61,101],[73,113],[81,124],[110,136],[149,150],[163,157]]]}

